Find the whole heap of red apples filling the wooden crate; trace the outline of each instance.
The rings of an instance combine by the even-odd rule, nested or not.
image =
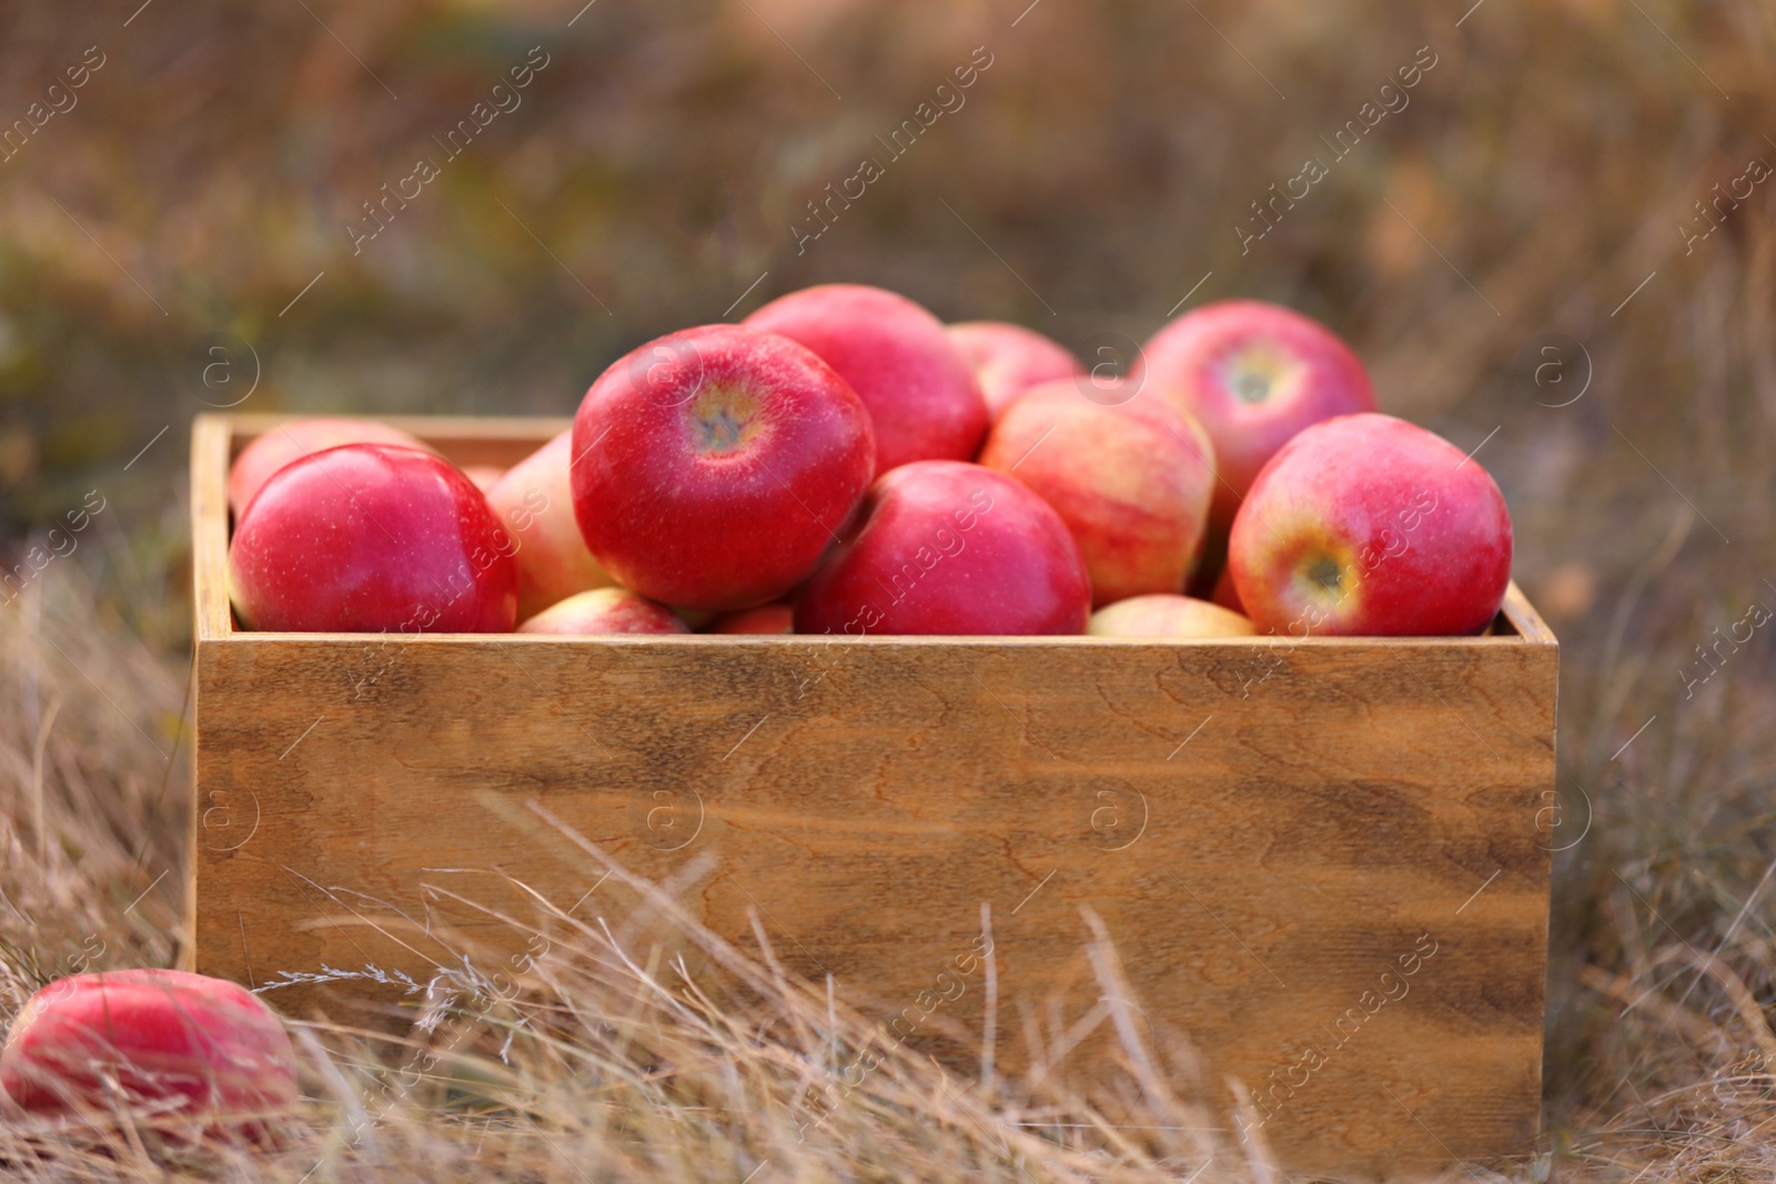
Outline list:
[[[478,476],[375,422],[259,437],[229,481],[240,623],[1472,634],[1511,566],[1485,469],[1259,302],[1186,312],[1110,376],[1016,325],[808,288],[618,359],[570,431]]]

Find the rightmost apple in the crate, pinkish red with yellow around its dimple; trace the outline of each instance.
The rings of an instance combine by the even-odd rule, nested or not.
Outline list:
[[[1257,474],[1227,570],[1265,632],[1476,634],[1511,579],[1511,517],[1455,444],[1392,415],[1339,415]]]

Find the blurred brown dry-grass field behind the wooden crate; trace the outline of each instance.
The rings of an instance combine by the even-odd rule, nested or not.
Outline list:
[[[1341,332],[1384,410],[1479,449],[1561,635],[1556,1173],[1769,1179],[1776,676],[1771,630],[1716,643],[1776,609],[1776,179],[1698,202],[1776,163],[1776,7],[139,4],[0,12],[0,130],[103,59],[0,160],[7,566],[105,501],[0,605],[0,1021],[46,975],[172,955],[179,877],[149,880],[188,822],[155,749],[185,738],[194,414],[568,414],[634,344],[822,280],[1121,360],[1174,309],[1259,296]],[[448,158],[533,46],[520,103]],[[876,137],[977,46],[963,107],[890,162]],[[1408,105],[1334,162],[1320,137],[1421,46]],[[797,243],[867,156],[886,176]],[[1243,250],[1309,156],[1330,176]],[[419,158],[440,176],[353,245]],[[922,1113],[845,1127],[874,1164],[852,1179],[961,1173]],[[984,1147],[984,1113],[955,1138]],[[1034,1179],[1172,1172],[1027,1150]]]

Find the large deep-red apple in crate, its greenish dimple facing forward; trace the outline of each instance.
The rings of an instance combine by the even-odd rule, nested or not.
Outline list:
[[[870,414],[819,357],[735,325],[652,341],[574,417],[574,515],[620,584],[670,605],[776,600],[868,488]]]

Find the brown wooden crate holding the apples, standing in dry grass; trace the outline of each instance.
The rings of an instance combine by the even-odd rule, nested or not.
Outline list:
[[[494,465],[563,428],[394,422]],[[1268,1099],[1289,1166],[1380,1173],[1538,1133],[1556,641],[1515,586],[1483,637],[250,634],[226,472],[272,424],[206,415],[194,437],[197,969],[423,980],[455,959],[417,925],[444,900],[428,884],[517,875],[614,918],[620,880],[535,802],[655,880],[714,854],[686,898],[703,923],[749,948],[757,912],[789,967],[895,1033],[987,902],[1012,1065],[1021,1006],[1076,1019],[1103,994],[1089,907],[1149,1031]],[[266,998],[350,1019],[373,991]],[[979,1031],[982,996],[945,1019]]]

